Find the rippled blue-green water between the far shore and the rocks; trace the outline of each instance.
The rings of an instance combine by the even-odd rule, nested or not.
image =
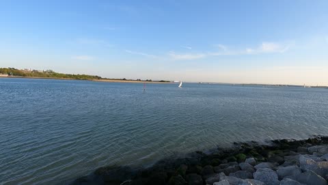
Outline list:
[[[66,184],[234,141],[328,133],[328,90],[0,78],[0,184]]]

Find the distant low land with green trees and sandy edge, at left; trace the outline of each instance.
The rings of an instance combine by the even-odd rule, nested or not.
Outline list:
[[[12,67],[0,68],[0,77],[22,77],[22,78],[41,78],[41,79],[79,79],[79,80],[92,80],[96,82],[134,82],[134,83],[170,83],[167,80],[152,80],[152,79],[111,79],[104,78],[98,75],[74,75],[57,73],[52,70],[38,71],[35,69],[15,69]]]

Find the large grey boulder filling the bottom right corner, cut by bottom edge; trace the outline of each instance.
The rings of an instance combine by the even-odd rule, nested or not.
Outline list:
[[[327,181],[320,175],[314,173],[313,171],[306,171],[299,175],[290,176],[288,178],[308,185],[327,185]]]

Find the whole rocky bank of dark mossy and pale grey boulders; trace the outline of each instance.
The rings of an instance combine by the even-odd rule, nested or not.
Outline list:
[[[147,169],[100,167],[72,184],[328,185],[328,136],[234,143],[211,153],[165,159]]]

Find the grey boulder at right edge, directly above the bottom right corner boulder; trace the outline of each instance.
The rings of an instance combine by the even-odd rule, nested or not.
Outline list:
[[[313,171],[321,177],[325,177],[325,175],[328,174],[327,161],[315,162],[314,160],[307,158],[306,156],[300,156],[299,166],[303,171]]]

